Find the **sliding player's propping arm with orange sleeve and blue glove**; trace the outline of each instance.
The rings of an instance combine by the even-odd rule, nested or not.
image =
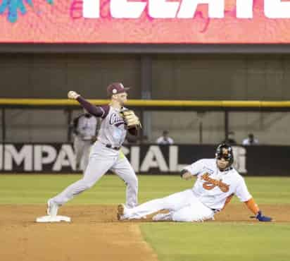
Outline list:
[[[239,185],[237,186],[235,194],[242,202],[246,204],[246,207],[248,207],[248,209],[251,210],[253,214],[255,214],[255,217],[258,219],[258,221],[268,222],[272,220],[271,217],[266,217],[262,214],[258,204],[256,204],[255,200],[248,192],[244,178],[241,178],[241,181],[239,181]]]

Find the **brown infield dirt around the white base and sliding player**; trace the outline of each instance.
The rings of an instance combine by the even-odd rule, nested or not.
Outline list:
[[[290,222],[289,205],[260,205],[275,222]],[[40,224],[43,205],[0,205],[1,261],[156,261],[158,257],[141,236],[140,221],[118,221],[113,205],[68,205],[59,214],[71,223]],[[216,221],[257,222],[243,204],[229,205]],[[151,221],[145,219],[142,221]]]

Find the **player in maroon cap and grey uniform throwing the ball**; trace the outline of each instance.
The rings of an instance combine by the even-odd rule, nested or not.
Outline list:
[[[123,107],[123,104],[127,102],[126,91],[128,89],[122,83],[112,83],[107,87],[111,102],[100,107],[92,105],[77,92],[68,92],[69,99],[76,99],[90,114],[101,118],[101,127],[98,138],[92,146],[89,164],[84,171],[83,178],[48,200],[47,214],[50,217],[56,217],[58,207],[71,200],[75,195],[94,186],[109,169],[125,181],[127,186],[126,207],[137,205],[137,176],[130,162],[120,150],[127,131],[132,135],[137,135],[138,128],[141,126],[134,111]]]

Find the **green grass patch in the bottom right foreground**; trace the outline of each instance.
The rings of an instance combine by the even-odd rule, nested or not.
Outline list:
[[[290,226],[245,223],[141,224],[160,261],[289,261]]]

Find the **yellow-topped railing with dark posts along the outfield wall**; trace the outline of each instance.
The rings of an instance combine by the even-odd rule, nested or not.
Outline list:
[[[108,104],[108,99],[89,99],[96,105]],[[285,112],[290,111],[290,101],[213,101],[213,100],[148,100],[130,99],[127,106],[136,109],[141,118],[146,111],[220,111],[224,114],[223,129],[224,138],[229,135],[229,113],[235,111],[258,111],[258,112]],[[1,141],[6,142],[7,133],[7,109],[58,109],[65,111],[66,126],[70,125],[73,111],[81,109],[80,104],[70,99],[0,99],[1,108]],[[286,114],[285,114],[286,115]],[[199,143],[203,143],[203,121],[198,120]],[[70,128],[67,129],[66,138],[63,142],[70,141]],[[8,140],[10,141],[10,140]],[[33,141],[33,140],[32,140]],[[37,140],[41,142],[42,140]]]

